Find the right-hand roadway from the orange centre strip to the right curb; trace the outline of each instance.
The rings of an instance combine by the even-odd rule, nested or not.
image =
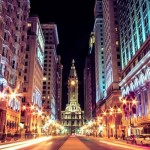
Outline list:
[[[91,149],[91,150],[149,150],[149,147],[143,147],[143,146],[137,146],[132,144],[126,144],[125,142],[118,142],[115,140],[107,141],[106,139],[99,139],[99,138],[93,138],[93,137],[79,137],[81,141],[85,142],[85,144]],[[97,148],[95,148],[97,147]]]

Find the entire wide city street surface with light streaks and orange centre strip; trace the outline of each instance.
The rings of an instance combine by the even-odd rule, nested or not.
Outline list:
[[[92,136],[53,136],[0,145],[1,150],[148,150],[125,141]]]

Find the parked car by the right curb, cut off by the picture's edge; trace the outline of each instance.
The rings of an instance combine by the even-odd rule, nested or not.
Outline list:
[[[131,135],[126,138],[127,143],[150,145],[150,136],[146,135]]]

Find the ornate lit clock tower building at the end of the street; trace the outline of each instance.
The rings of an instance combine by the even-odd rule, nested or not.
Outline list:
[[[62,111],[62,125],[72,134],[77,133],[83,124],[84,111],[78,103],[78,77],[73,60],[68,78],[68,104],[65,111]]]

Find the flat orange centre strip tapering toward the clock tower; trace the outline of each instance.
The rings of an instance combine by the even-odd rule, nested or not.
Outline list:
[[[76,136],[70,136],[59,150],[90,150]]]

